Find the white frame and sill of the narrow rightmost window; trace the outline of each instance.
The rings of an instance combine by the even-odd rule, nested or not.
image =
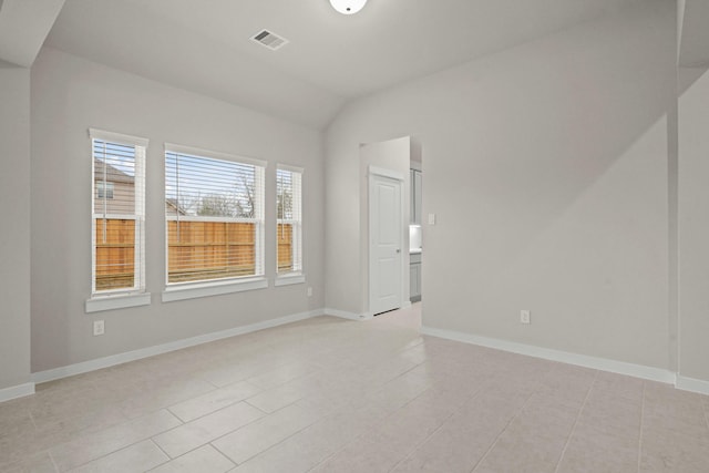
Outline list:
[[[278,173],[287,172],[292,175],[291,187],[292,218],[279,218],[278,216]],[[278,163],[276,165],[276,233],[281,224],[291,225],[291,263],[292,269],[280,271],[278,267],[278,235],[276,235],[276,286],[287,286],[306,281],[304,271],[304,238],[302,238],[302,178],[305,169],[289,164]],[[297,194],[297,195],[296,195]]]

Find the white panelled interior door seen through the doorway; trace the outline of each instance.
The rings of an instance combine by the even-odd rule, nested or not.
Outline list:
[[[372,315],[398,309],[402,301],[402,182],[370,175],[369,295]]]

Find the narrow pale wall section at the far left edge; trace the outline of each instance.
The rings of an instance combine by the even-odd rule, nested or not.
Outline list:
[[[0,61],[0,400],[30,382],[30,70]],[[27,392],[22,392],[27,393]]]

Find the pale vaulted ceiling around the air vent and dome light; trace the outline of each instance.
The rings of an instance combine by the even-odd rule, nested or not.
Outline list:
[[[328,0],[4,0],[0,59],[29,66],[47,37],[99,63],[323,127],[353,97],[643,1],[369,0],[342,16]],[[709,60],[708,4],[686,0],[680,51],[692,64]],[[263,29],[289,43],[271,51],[249,40]]]

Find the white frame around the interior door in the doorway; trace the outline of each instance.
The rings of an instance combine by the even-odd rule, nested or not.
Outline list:
[[[407,265],[408,265],[408,258],[405,258],[404,256],[409,255],[409,248],[404,248],[404,217],[405,217],[405,208],[404,208],[404,204],[408,202],[404,196],[404,176],[393,169],[387,169],[384,167],[378,167],[378,166],[372,166],[370,165],[368,168],[368,212],[367,212],[367,220],[368,220],[368,235],[367,235],[367,239],[368,239],[368,244],[367,244],[367,248],[368,248],[368,263],[369,263],[369,268],[368,268],[368,289],[369,289],[369,307],[368,307],[368,316],[369,317],[373,317],[374,316],[374,311],[373,311],[373,307],[374,307],[374,278],[372,277],[372,271],[374,268],[374,255],[376,251],[373,251],[373,240],[374,240],[374,236],[373,236],[373,225],[372,225],[372,217],[374,215],[373,213],[373,208],[374,208],[374,178],[376,177],[388,177],[390,179],[397,181],[399,183],[399,203],[400,203],[400,209],[399,209],[399,247],[401,248],[401,264],[399,267],[399,280],[400,280],[400,289],[399,289],[399,307],[403,308],[404,307],[404,300],[407,300],[407,295],[405,292],[405,288],[407,288],[407,284],[405,284],[405,277],[404,277],[404,271],[407,269]]]

